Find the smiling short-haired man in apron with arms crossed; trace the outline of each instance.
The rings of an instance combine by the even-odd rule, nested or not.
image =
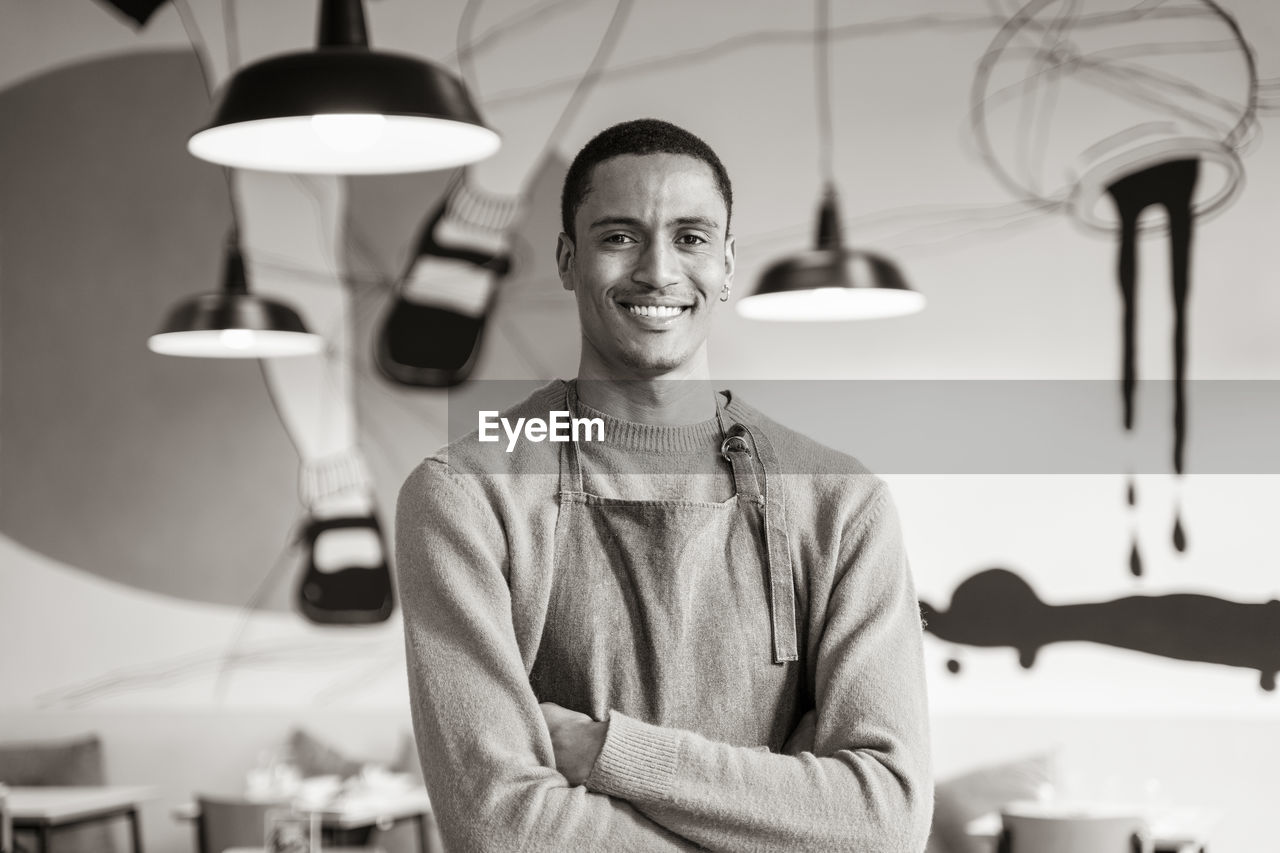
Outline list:
[[[884,485],[708,384],[731,206],[675,126],[591,140],[557,246],[579,377],[503,418],[598,418],[604,441],[472,434],[401,492],[413,722],[451,853],[924,847],[920,620]]]

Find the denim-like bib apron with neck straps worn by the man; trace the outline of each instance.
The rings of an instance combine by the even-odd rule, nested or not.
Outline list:
[[[566,384],[568,411],[577,392]],[[631,501],[588,493],[576,442],[559,453],[540,702],[611,708],[735,745],[781,749],[804,711],[795,589],[777,457],[716,397],[733,496]],[[777,480],[774,479],[776,484]]]

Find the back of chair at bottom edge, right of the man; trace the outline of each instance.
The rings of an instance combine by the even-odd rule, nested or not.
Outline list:
[[[998,853],[1152,853],[1146,821],[1137,816],[1004,812],[1001,820]]]

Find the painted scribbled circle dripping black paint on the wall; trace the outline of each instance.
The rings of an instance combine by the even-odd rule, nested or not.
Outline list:
[[[992,173],[1019,196],[1120,238],[1126,430],[1134,426],[1138,377],[1137,243],[1143,233],[1167,234],[1179,475],[1193,227],[1243,187],[1239,155],[1257,129],[1257,90],[1252,47],[1235,18],[1212,0],[1033,0],[1000,29],[974,77],[973,128]],[[1202,178],[1202,172],[1208,174]],[[1164,218],[1144,220],[1153,206],[1164,209]],[[1132,478],[1125,494],[1135,506]],[[1180,510],[1172,540],[1185,551]],[[1134,576],[1143,573],[1137,539],[1129,569]]]

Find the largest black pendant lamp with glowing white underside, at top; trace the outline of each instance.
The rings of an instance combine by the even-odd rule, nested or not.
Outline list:
[[[454,76],[369,49],[362,0],[321,0],[317,42],[238,70],[187,150],[238,169],[312,174],[449,169],[498,150]]]

